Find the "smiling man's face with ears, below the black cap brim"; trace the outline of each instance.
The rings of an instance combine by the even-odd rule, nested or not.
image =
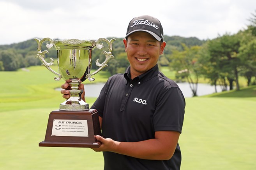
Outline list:
[[[131,65],[131,78],[153,68],[164,52],[166,42],[160,43],[145,31],[136,31],[124,39],[125,51]]]

